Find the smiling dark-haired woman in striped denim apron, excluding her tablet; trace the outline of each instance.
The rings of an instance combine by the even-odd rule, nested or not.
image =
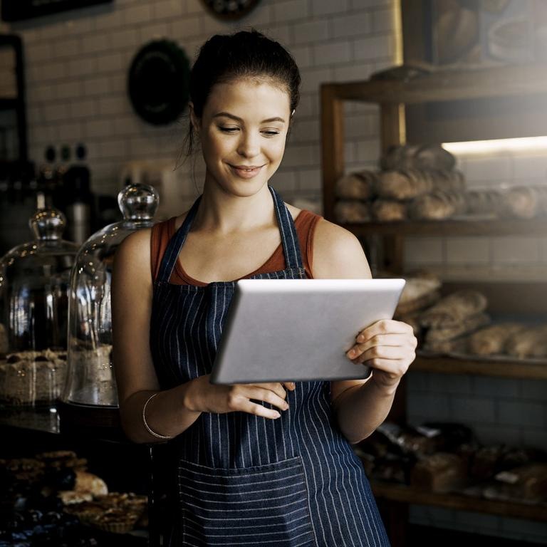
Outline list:
[[[173,439],[173,545],[388,544],[350,443],[390,410],[415,357],[410,326],[380,321],[358,335],[348,358],[373,367],[368,380],[209,383],[233,280],[370,278],[353,234],[269,187],[299,84],[293,58],[256,31],[207,41],[189,103],[203,194],[189,212],[127,237],[116,256],[120,412],[133,441]]]

